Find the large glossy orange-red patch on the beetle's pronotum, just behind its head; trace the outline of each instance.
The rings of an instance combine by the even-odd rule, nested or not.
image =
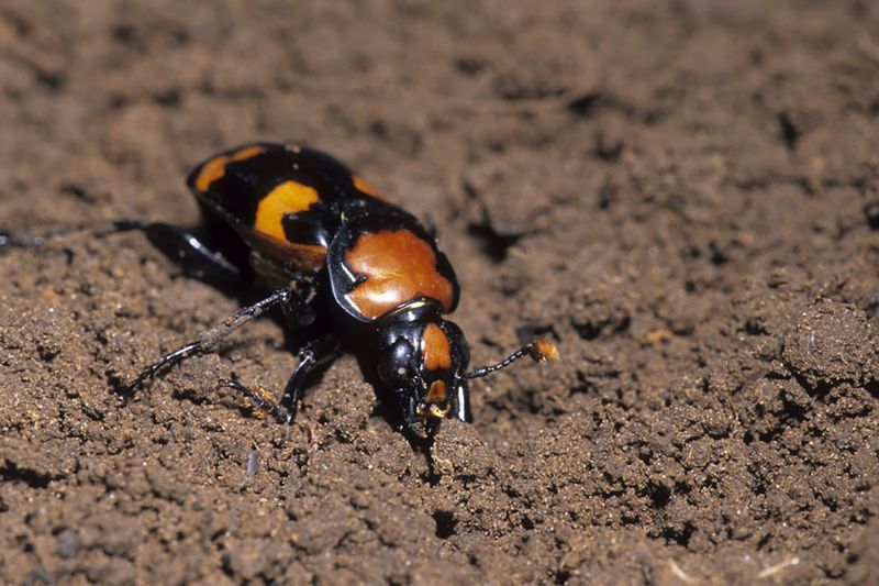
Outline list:
[[[367,318],[419,297],[439,301],[446,311],[452,308],[454,288],[436,269],[433,248],[409,230],[361,234],[345,253],[345,264],[366,277],[347,297]]]

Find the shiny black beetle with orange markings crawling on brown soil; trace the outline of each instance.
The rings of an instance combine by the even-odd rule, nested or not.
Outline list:
[[[468,380],[525,355],[535,362],[558,358],[555,344],[537,340],[498,364],[468,371],[464,333],[445,319],[460,296],[448,258],[414,215],[331,155],[244,144],[197,165],[187,186],[201,208],[204,235],[138,220],[93,231],[142,231],[196,277],[251,281],[271,292],[143,368],[122,386],[124,395],[214,350],[275,307],[289,330],[308,334],[280,399],[237,380],[222,384],[281,423],[293,420],[309,373],[346,342],[375,365],[379,384],[397,403],[399,427],[421,438],[435,433],[445,418],[472,420]],[[0,248],[47,240],[0,235]]]

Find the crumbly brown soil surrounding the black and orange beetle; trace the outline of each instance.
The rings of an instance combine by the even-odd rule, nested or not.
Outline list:
[[[196,224],[189,168],[334,153],[438,230],[475,364],[427,450],[355,357],[291,427],[260,320],[141,234],[0,255],[5,584],[876,584],[879,4],[4,0],[0,226]]]

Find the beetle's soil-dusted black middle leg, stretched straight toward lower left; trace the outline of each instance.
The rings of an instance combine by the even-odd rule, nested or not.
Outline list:
[[[210,330],[199,333],[198,339],[188,344],[183,344],[174,352],[166,354],[158,361],[154,362],[143,371],[129,385],[125,385],[122,390],[123,394],[130,395],[144,383],[154,378],[159,372],[176,366],[185,360],[197,354],[204,354],[212,351],[216,344],[225,336],[244,325],[245,323],[258,318],[266,310],[289,301],[290,297],[294,295],[289,288],[283,288],[275,291],[262,301],[245,307],[236,313],[230,316],[222,322],[218,323]]]

